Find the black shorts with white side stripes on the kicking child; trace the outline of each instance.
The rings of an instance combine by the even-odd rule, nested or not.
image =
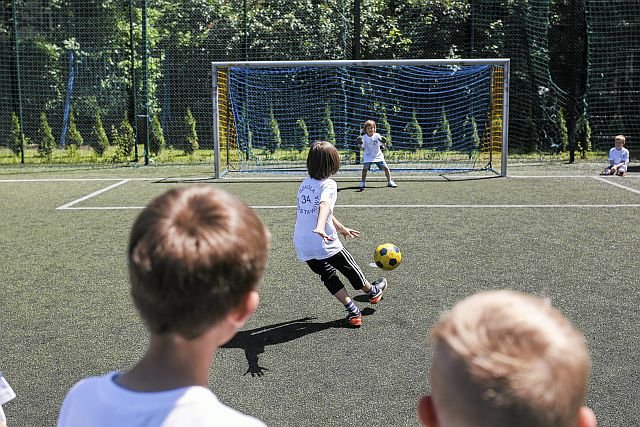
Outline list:
[[[335,295],[344,288],[338,277],[338,271],[347,278],[353,289],[360,290],[367,282],[362,269],[347,248],[342,248],[337,254],[325,259],[310,259],[307,264],[314,273],[320,276],[320,280]]]

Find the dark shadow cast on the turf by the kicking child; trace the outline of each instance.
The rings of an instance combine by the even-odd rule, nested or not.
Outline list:
[[[370,316],[373,313],[375,313],[375,310],[370,307],[362,310],[363,316]],[[251,374],[252,377],[261,377],[269,370],[264,366],[260,366],[258,363],[258,355],[264,353],[266,346],[293,341],[305,335],[326,329],[351,328],[345,319],[332,320],[330,322],[312,322],[312,320],[315,319],[315,317],[305,317],[277,323],[275,325],[250,329],[248,331],[241,331],[222,347],[243,349],[247,363],[249,364],[243,376]]]

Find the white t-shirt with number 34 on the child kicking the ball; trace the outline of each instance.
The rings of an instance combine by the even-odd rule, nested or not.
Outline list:
[[[293,244],[301,261],[329,258],[342,250],[342,242],[333,225],[333,208],[337,199],[338,185],[330,178],[319,181],[308,177],[300,184]],[[324,232],[333,239],[328,243],[313,232],[318,224],[320,202],[327,202],[330,209],[327,224],[324,227]]]

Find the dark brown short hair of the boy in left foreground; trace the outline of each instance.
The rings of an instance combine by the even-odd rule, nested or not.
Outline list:
[[[142,211],[131,230],[135,306],[152,333],[196,338],[256,288],[269,242],[255,212],[225,191],[169,190]]]

